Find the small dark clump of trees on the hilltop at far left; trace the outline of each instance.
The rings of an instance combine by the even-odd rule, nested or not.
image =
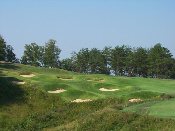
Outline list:
[[[19,63],[19,59],[13,53],[13,47],[7,45],[3,37],[0,35],[0,61],[16,62]]]

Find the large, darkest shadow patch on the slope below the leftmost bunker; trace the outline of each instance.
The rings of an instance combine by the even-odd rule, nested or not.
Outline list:
[[[13,84],[12,80],[20,81],[14,77],[0,77],[0,106],[25,101],[24,90],[19,85]]]

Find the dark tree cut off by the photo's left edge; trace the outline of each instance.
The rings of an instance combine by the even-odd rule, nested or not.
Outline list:
[[[5,49],[6,49],[6,42],[0,35],[0,60],[1,61],[5,60],[5,55],[6,55]]]

